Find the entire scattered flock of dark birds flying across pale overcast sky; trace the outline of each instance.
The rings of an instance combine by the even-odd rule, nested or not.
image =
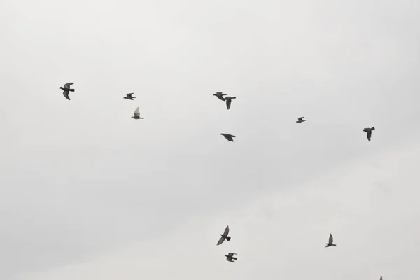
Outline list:
[[[66,83],[64,85],[64,87],[60,87],[60,89],[63,90],[63,95],[64,97],[66,97],[66,99],[69,99],[69,93],[70,92],[74,92],[73,88],[70,88],[70,86],[73,85],[73,83]],[[134,93],[127,93],[127,95],[125,97],[123,97],[124,99],[129,99],[129,100],[134,100],[133,97]],[[221,99],[221,101],[226,102],[226,108],[229,110],[230,106],[232,105],[232,99],[235,99],[236,97],[230,97],[227,96],[228,94],[225,94],[223,92],[216,92],[215,94],[213,94],[214,96],[216,96],[218,99]],[[134,111],[134,116],[132,116],[132,118],[138,120],[138,119],[144,119],[142,117],[140,117],[140,107],[137,107],[136,110]],[[303,123],[306,122],[306,120],[304,120],[304,117],[300,117],[297,118],[296,123]],[[374,127],[365,127],[363,129],[363,132],[366,132],[367,134],[367,140],[370,141],[371,137],[372,137],[372,131],[374,130]],[[228,134],[228,133],[221,133],[221,135],[223,135],[223,137],[225,137],[225,139],[227,139],[230,142],[233,142],[233,138],[235,137],[235,135],[232,134]],[[217,242],[216,245],[220,245],[223,243],[223,241],[228,240],[230,241],[230,236],[229,236],[229,225],[226,226],[225,231],[223,232],[223,235],[221,235],[221,239],[219,239],[219,241]],[[328,243],[326,244],[325,248],[330,247],[330,246],[336,246],[336,244],[333,244],[333,237],[332,234],[330,234],[330,238],[328,239]],[[228,260],[229,262],[235,262],[235,260],[237,260],[237,258],[234,256],[237,255],[237,253],[228,253],[228,255],[225,255],[226,260]],[[382,276],[381,279],[382,280]]]

